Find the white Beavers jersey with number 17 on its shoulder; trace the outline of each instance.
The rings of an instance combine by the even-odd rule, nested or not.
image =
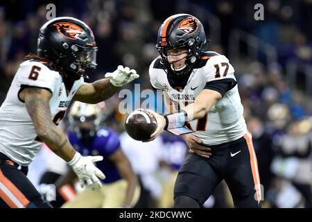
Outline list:
[[[223,55],[208,51],[193,67],[184,89],[174,89],[168,81],[160,60],[161,58],[156,58],[150,65],[150,83],[156,89],[164,90],[177,110],[193,103],[208,82],[225,78],[236,80],[234,68],[229,60]],[[237,85],[226,92],[223,98],[211,107],[205,117],[195,119],[187,126],[194,130],[193,134],[207,145],[224,144],[243,137],[247,127]]]

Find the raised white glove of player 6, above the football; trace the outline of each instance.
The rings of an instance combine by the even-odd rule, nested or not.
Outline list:
[[[105,78],[109,78],[112,85],[121,87],[139,78],[139,75],[135,69],[130,69],[129,67],[123,68],[122,65],[119,65],[114,72],[107,72]]]

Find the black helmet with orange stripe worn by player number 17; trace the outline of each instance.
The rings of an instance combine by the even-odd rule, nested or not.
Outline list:
[[[165,65],[167,70],[171,69],[166,52],[168,49],[184,48],[188,51],[185,62],[187,67],[181,71],[172,70],[174,74],[189,74],[202,53],[204,53],[206,46],[207,40],[204,27],[193,15],[172,15],[159,28],[156,49],[162,56],[162,64]]]

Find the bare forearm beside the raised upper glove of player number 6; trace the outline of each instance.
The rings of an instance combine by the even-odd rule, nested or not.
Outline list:
[[[96,94],[94,97],[95,103],[99,103],[101,101],[109,99],[119,89],[119,87],[115,87],[114,85],[112,85],[112,83],[110,83],[110,80],[108,78],[97,80],[94,83],[92,83],[92,85],[96,90]]]

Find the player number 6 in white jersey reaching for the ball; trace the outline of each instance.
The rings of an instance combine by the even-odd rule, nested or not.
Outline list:
[[[57,17],[41,28],[37,55],[26,56],[0,108],[0,207],[51,207],[26,178],[42,143],[62,157],[82,185],[101,187],[94,166],[101,156],[83,157],[58,127],[71,99],[98,103],[139,75],[119,66],[106,78],[84,83],[96,68],[92,30],[78,19]]]

